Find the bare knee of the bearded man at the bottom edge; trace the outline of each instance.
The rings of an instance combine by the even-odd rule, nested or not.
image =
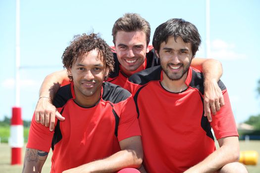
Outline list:
[[[248,173],[246,167],[238,162],[233,162],[223,166],[218,173]]]

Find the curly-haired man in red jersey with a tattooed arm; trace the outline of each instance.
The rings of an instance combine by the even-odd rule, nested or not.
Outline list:
[[[78,35],[62,63],[71,83],[58,89],[53,105],[66,121],[57,120],[50,131],[33,116],[23,173],[40,173],[51,147],[51,173],[138,168],[143,150],[134,100],[126,89],[104,82],[113,71],[110,47],[96,34]]]

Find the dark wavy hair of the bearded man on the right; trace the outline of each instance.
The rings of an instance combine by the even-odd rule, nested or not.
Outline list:
[[[185,43],[191,43],[192,55],[195,56],[201,44],[201,36],[195,25],[183,19],[169,19],[160,24],[155,31],[153,46],[159,51],[162,42],[167,43],[169,37],[176,41],[181,37]]]

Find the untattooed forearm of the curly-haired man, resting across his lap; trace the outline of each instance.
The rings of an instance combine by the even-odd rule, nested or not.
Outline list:
[[[143,159],[133,150],[122,150],[108,158],[90,162],[63,173],[111,173],[123,168],[139,168]]]

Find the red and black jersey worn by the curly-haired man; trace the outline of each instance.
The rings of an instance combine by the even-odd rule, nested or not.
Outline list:
[[[95,106],[85,108],[74,101],[73,83],[61,87],[53,104],[65,121],[56,119],[54,131],[32,118],[27,148],[52,147],[52,173],[108,157],[120,151],[118,141],[141,135],[130,92],[105,82],[101,93]]]

